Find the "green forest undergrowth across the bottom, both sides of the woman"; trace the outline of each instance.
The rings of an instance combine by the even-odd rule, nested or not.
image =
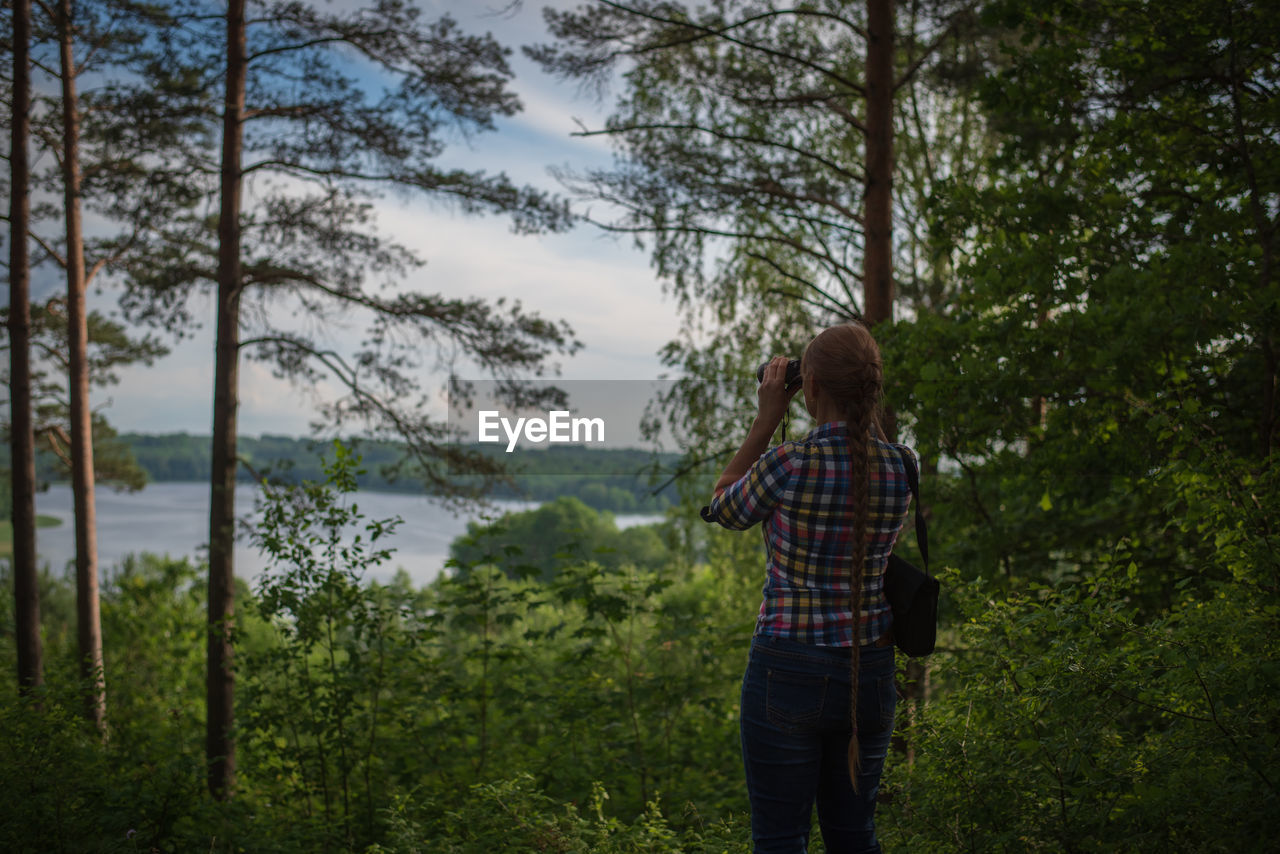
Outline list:
[[[691,548],[673,521],[662,567],[566,542],[548,579],[499,520],[434,584],[376,584],[403,522],[360,512],[357,470],[339,447],[326,483],[264,493],[253,540],[273,568],[239,592],[225,802],[205,789],[201,567],[142,554],[104,585],[105,741],[81,712],[74,585],[46,572],[47,688],[0,703],[0,846],[749,850],[737,689],[758,540]],[[1201,479],[1183,488],[1203,501],[1181,524],[1219,530],[1219,560],[1158,613],[1123,543],[1018,590],[943,570],[947,625],[882,786],[887,850],[1266,849],[1276,567],[1248,517],[1224,531],[1230,507]],[[12,631],[3,643],[12,663]]]

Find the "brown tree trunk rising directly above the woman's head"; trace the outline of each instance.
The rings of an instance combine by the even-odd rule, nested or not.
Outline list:
[[[893,318],[893,0],[867,0],[863,319]]]

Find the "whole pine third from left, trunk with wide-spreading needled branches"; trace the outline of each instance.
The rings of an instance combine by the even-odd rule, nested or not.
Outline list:
[[[210,790],[228,796],[241,355],[301,384],[335,382],[343,392],[321,402],[324,431],[355,423],[371,438],[407,440],[402,472],[447,489],[451,470],[493,463],[460,452],[428,417],[420,371],[456,350],[499,378],[540,373],[576,342],[518,302],[404,289],[421,260],[374,230],[374,202],[417,193],[467,214],[509,214],[525,232],[570,220],[563,202],[502,174],[434,163],[449,133],[492,129],[520,106],[492,37],[465,35],[448,17],[426,22],[401,0],[337,12],[233,0],[216,31],[197,13],[179,20],[154,46],[147,87],[174,93],[157,109],[192,117],[186,183],[216,198],[216,232],[196,213],[156,222],[116,271],[131,316],[165,325],[191,323],[191,294],[216,287],[206,752]],[[367,333],[342,351],[320,330],[347,315]],[[289,316],[308,330],[279,323]]]

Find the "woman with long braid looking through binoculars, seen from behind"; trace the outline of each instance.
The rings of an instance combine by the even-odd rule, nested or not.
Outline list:
[[[751,837],[756,854],[805,851],[817,802],[829,854],[879,851],[876,793],[896,705],[882,583],[911,501],[901,456],[911,451],[879,438],[881,356],[861,324],[805,348],[818,426],[769,448],[797,391],[783,384],[786,365],[765,367],[755,421],[703,508],[724,528],[764,528],[740,718]]]

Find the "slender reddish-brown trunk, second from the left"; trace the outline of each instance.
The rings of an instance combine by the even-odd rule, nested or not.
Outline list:
[[[88,405],[88,319],[84,306],[84,236],[81,229],[79,106],[72,1],[58,9],[63,76],[63,187],[67,215],[67,341],[70,392],[72,494],[76,503],[76,629],[84,712],[106,732],[106,675],[97,606],[97,510],[93,501],[93,430]]]

